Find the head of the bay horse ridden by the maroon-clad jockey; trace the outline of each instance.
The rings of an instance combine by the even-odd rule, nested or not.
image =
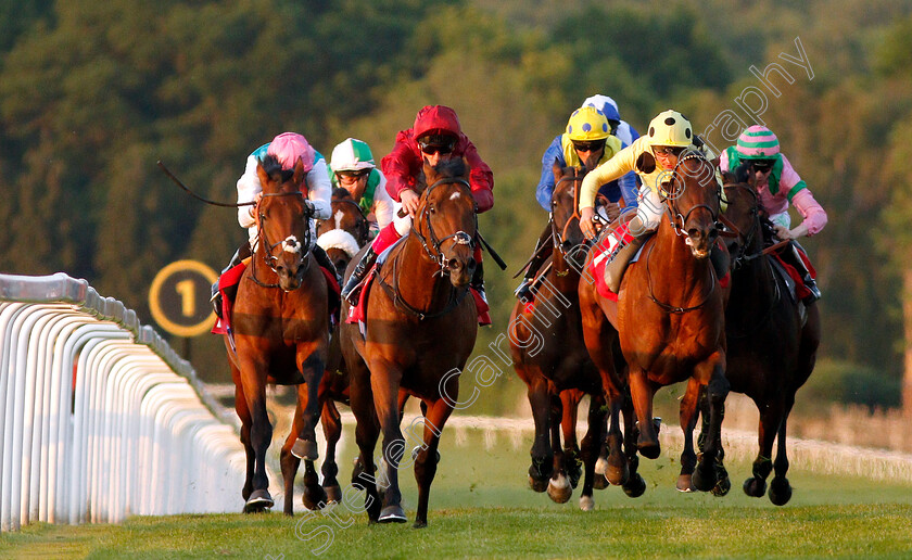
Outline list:
[[[477,204],[469,186],[465,160],[448,160],[431,167],[425,163],[427,188],[421,193],[413,232],[425,251],[448,275],[456,288],[465,288],[474,273],[478,230]]]

